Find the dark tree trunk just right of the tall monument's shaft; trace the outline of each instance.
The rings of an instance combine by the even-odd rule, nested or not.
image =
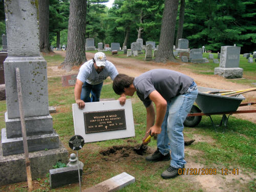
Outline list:
[[[49,42],[49,0],[38,1],[39,48],[40,52],[51,51]]]

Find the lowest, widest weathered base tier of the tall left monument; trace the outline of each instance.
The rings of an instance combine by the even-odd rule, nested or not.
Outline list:
[[[67,164],[69,154],[61,144],[59,148],[29,153],[32,180],[45,178],[49,170],[56,162],[61,161]],[[2,145],[0,144],[0,185],[7,185],[27,181],[25,166],[25,155],[2,156]]]

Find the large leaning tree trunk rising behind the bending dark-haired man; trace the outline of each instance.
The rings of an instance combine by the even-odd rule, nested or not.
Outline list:
[[[174,61],[173,45],[179,0],[165,0],[156,62]]]

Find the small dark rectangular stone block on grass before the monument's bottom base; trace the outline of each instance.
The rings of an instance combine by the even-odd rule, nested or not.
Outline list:
[[[50,187],[57,188],[63,185],[79,182],[77,166],[50,169]],[[80,181],[82,180],[82,168],[79,168]]]

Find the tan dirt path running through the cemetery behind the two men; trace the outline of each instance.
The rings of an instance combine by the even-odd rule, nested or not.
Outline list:
[[[61,54],[65,56],[65,51],[56,51],[57,54]],[[86,53],[87,59],[90,60],[93,58],[94,53]],[[133,77],[139,76],[141,73],[152,69],[170,69],[179,71],[183,74],[186,74],[195,79],[198,86],[201,87],[209,87],[209,88],[217,88],[217,89],[246,89],[251,88],[249,85],[245,86],[243,84],[233,83],[227,81],[225,78],[218,75],[202,75],[191,72],[189,69],[184,69],[181,66],[187,65],[186,63],[175,63],[175,62],[167,62],[167,63],[156,63],[153,61],[138,61],[133,58],[117,58],[115,56],[107,56],[107,59],[114,63],[119,73],[124,73]],[[49,76],[62,76],[68,74],[78,73],[78,68],[73,69],[70,72],[66,72],[65,70],[58,69],[56,66],[49,67],[48,77]],[[243,94],[246,100],[244,102],[256,102],[256,92],[248,92]],[[238,110],[256,110],[256,106],[243,106]],[[234,114],[233,116],[239,117],[242,119],[246,119],[256,123],[256,115],[255,113],[246,113],[246,114]]]

